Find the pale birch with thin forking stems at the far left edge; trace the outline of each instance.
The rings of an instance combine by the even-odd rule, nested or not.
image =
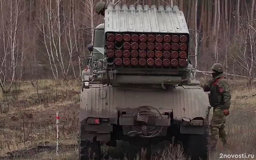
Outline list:
[[[2,27],[0,40],[3,46],[3,54],[0,57],[0,86],[5,93],[10,91],[20,62],[18,33],[21,29],[19,18],[22,17],[22,9],[18,0],[0,0],[0,4]]]

